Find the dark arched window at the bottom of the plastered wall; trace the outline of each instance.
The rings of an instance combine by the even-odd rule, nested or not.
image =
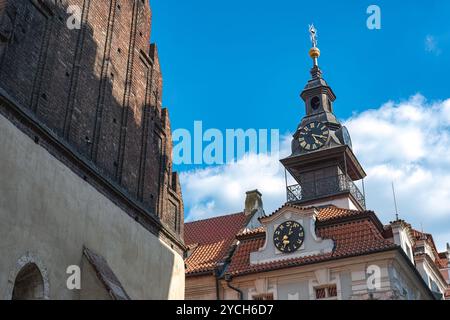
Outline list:
[[[14,282],[13,300],[43,300],[44,279],[34,263],[29,263],[20,270]]]

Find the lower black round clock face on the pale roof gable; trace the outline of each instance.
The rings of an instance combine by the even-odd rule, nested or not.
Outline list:
[[[295,221],[286,221],[278,226],[273,235],[275,247],[283,253],[298,251],[305,241],[303,226]]]

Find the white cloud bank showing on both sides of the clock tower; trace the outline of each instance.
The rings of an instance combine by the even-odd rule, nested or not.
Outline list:
[[[400,215],[435,234],[440,248],[450,234],[450,99],[428,102],[415,95],[388,102],[344,121],[354,152],[366,169],[368,208],[387,223],[394,219],[391,183]],[[281,156],[290,152],[283,138]],[[247,155],[237,163],[184,172],[181,181],[188,220],[239,212],[245,192],[259,189],[268,213],[286,199],[278,155]]]

